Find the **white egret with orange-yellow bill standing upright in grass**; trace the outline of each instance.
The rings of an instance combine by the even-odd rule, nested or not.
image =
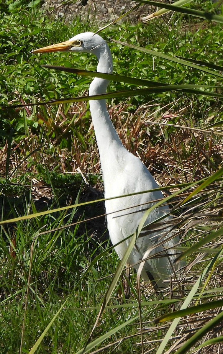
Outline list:
[[[98,58],[97,72],[108,74],[113,72],[110,49],[98,34],[81,33],[66,42],[36,49],[33,53],[56,51],[92,53]],[[109,80],[95,78],[90,84],[89,95],[105,93],[108,84]],[[122,145],[108,114],[105,99],[90,101],[90,111],[100,155],[105,198],[159,188],[142,161]],[[163,195],[160,191],[152,191],[105,201],[111,242],[116,245],[123,241],[115,246],[115,251],[120,259],[125,254],[130,242],[130,238],[126,238],[136,231],[145,210],[162,198]],[[164,203],[149,214],[144,225],[154,223],[155,220],[159,219],[159,227],[155,231],[154,225],[151,227],[150,224],[150,229],[152,228],[153,231],[149,233],[148,230],[146,232],[142,230],[141,237],[137,239],[128,259],[129,265],[138,269],[139,262],[149,247],[154,246],[162,239],[166,240],[171,237],[172,233],[168,222],[171,221],[172,217],[169,213],[170,209]],[[162,224],[162,228],[160,224]],[[167,240],[164,244],[153,249],[149,255],[153,257],[145,262],[141,275],[145,280],[151,280],[155,289],[167,287],[163,280],[171,277],[173,269],[175,271],[179,269],[178,264],[173,264],[176,258],[176,250],[173,247],[178,242],[178,236]],[[158,255],[155,256],[157,253]]]

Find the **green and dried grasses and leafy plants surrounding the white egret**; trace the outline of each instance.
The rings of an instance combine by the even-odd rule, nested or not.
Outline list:
[[[202,10],[215,11],[212,1],[191,7],[200,9],[201,3]],[[78,18],[72,24],[49,18],[40,5],[38,0],[0,4],[0,353],[19,348],[20,353],[84,353],[86,344],[90,353],[100,348],[138,353],[142,330],[145,352],[162,353],[165,347],[177,354],[191,348],[198,353],[202,343],[202,353],[221,352],[223,104],[216,86],[223,77],[222,23],[175,12],[149,24],[117,23],[102,32],[112,39],[116,74],[200,90],[196,95],[172,89],[129,97],[137,86],[110,82],[114,96],[129,90],[108,100],[120,138],[164,189],[176,194],[169,198],[187,256],[181,296],[157,296],[142,282],[141,321],[136,275],[131,275],[128,299],[119,276],[109,288],[120,261],[104,225],[88,103],[40,105],[85,95],[91,80],[41,65],[94,71],[96,58],[28,54],[98,28]],[[179,57],[190,59],[189,66]],[[37,105],[11,107],[24,103]],[[108,306],[87,343],[103,299]],[[190,311],[181,312],[180,322],[179,308]],[[172,325],[168,313],[176,317]],[[154,324],[161,315],[165,324],[161,319]],[[162,342],[166,332],[168,343]],[[175,343],[183,335],[179,349]]]

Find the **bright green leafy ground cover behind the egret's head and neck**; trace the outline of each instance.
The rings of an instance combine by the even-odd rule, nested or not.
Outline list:
[[[14,4],[14,3],[13,3]],[[188,30],[179,32],[183,19],[178,15],[171,17],[171,24],[165,25],[160,19],[150,22],[149,25],[141,23],[131,25],[122,23],[117,27],[111,27],[104,31],[110,38],[119,39],[119,33],[122,33],[122,41],[130,44],[145,46],[154,51],[159,51],[167,55],[182,56],[185,58],[194,58],[196,60],[222,65],[222,39],[223,31],[220,25],[212,26],[207,24],[204,29],[196,29],[196,22],[191,20]],[[69,53],[53,53],[45,55],[28,54],[33,48],[52,44],[53,42],[63,41],[75,33],[84,32],[87,26],[76,19],[72,25],[61,23],[59,20],[49,19],[36,7],[31,8],[29,12],[22,7],[18,13],[8,14],[0,19],[2,45],[0,48],[0,103],[7,105],[8,102],[22,103],[22,99],[27,102],[38,102],[38,100],[50,100],[63,97],[76,97],[88,89],[90,79],[86,77],[77,77],[65,72],[56,72],[41,68],[42,64],[58,64],[63,66],[74,66],[95,70],[96,58],[86,54],[70,55]],[[201,26],[200,26],[201,27]],[[44,28],[44,31],[42,30]],[[117,31],[118,29],[118,31]],[[177,35],[176,35],[177,34]],[[159,38],[159,41],[157,40]],[[19,39],[19,40],[18,40]],[[53,40],[52,40],[53,39]],[[202,45],[200,45],[202,43]],[[185,68],[177,63],[168,62],[161,58],[152,58],[141,51],[133,51],[131,48],[114,44],[110,42],[110,48],[114,59],[114,72],[125,75],[131,73],[133,77],[140,77],[147,80],[167,82],[169,84],[205,84],[209,86],[219,85],[219,78],[207,73],[198,72],[198,70]],[[137,65],[135,63],[137,62]],[[80,65],[81,63],[81,65]],[[131,89],[130,84],[110,83],[110,90]],[[81,88],[81,91],[80,91]],[[35,97],[35,98],[34,98]],[[16,100],[16,101],[15,101]],[[177,93],[159,93],[151,97],[135,97],[128,100],[128,105],[136,108],[142,104],[152,101],[159,104],[160,107],[177,100],[176,110],[181,110],[190,106],[190,97],[180,92]],[[118,99],[114,100],[116,104]],[[192,120],[193,125],[204,127],[206,113],[212,116],[211,122],[221,120],[219,113],[218,99],[206,98],[205,96],[196,96],[193,98],[193,109],[189,109],[185,114],[184,120]],[[133,108],[132,107],[132,108]],[[68,112],[70,105],[64,105],[64,111]],[[132,109],[130,107],[130,109]],[[81,109],[84,110],[83,107]],[[57,108],[54,106],[48,112],[45,108],[29,110],[29,117],[25,110],[6,111],[0,110],[0,119],[2,126],[0,136],[7,137],[11,127],[14,129],[13,139],[20,143],[23,139],[29,138],[28,130],[35,137],[42,136],[42,131],[46,134],[47,143],[52,144],[53,139],[57,139],[59,147],[71,150],[74,145],[74,139],[77,139],[81,152],[84,153],[89,146],[94,148],[95,142],[92,140],[92,134],[88,132],[90,127],[89,112],[86,112],[81,118],[81,124],[71,123],[66,131],[66,122],[62,123],[61,128],[54,124],[54,116]],[[74,118],[74,120],[72,119]],[[67,119],[75,121],[75,116],[68,114]],[[178,124],[179,118],[170,119],[169,123]],[[66,131],[64,136],[63,131]],[[166,128],[166,137],[171,136],[172,129]],[[39,143],[45,143],[44,136]],[[87,144],[86,144],[87,137]],[[49,141],[50,140],[50,141]],[[156,135],[151,134],[150,142],[157,144]],[[87,147],[88,146],[88,147]],[[41,163],[41,162],[40,162]],[[67,164],[70,170],[69,164]]]

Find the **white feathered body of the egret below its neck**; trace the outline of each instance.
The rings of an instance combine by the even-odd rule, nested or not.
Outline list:
[[[135,168],[133,169],[132,166],[135,166]],[[112,243],[115,245],[136,231],[144,212],[158,200],[161,200],[163,195],[160,191],[135,194],[145,190],[153,190],[158,188],[158,185],[142,162],[132,154],[130,158],[128,156],[128,163],[125,160],[124,168],[114,169],[113,174],[113,186],[109,188],[109,197],[134,193],[131,196],[107,200],[105,202],[109,234]],[[105,190],[105,197],[107,198],[106,192]],[[165,248],[171,248],[179,241],[175,237],[165,242],[164,245],[154,248],[162,238],[166,239],[171,236],[168,221],[172,217],[168,215],[169,212],[169,207],[165,203],[150,212],[145,222],[145,225],[149,226],[142,230],[128,260],[128,263],[131,265],[139,262],[145,251],[151,248],[149,256],[152,258],[146,262],[144,269],[153,275],[159,286],[162,284],[162,279],[172,274],[170,263],[175,258],[174,250],[167,251],[169,256],[165,256]],[[158,225],[154,224],[154,221],[158,219]],[[122,244],[115,247],[120,258],[123,257],[129,242],[130,239],[128,238]],[[154,257],[156,253],[159,253],[159,256]],[[137,267],[135,266],[136,269]],[[143,277],[145,278],[144,275]],[[161,281],[159,281],[160,279]]]

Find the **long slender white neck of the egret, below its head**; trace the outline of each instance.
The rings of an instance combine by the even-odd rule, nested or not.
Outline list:
[[[106,42],[100,46],[100,50],[95,53],[98,58],[97,72],[111,74],[113,72],[113,62],[110,49]],[[109,80],[95,78],[90,85],[89,95],[100,95],[106,92],[108,87]],[[98,150],[101,161],[101,168],[104,177],[104,185],[106,189],[106,180],[107,176],[105,173],[108,173],[108,164],[115,161],[115,156],[120,150],[120,147],[123,147],[119,136],[110,120],[106,108],[105,99],[93,100],[90,101],[90,111],[91,117],[95,129],[95,136],[98,144]],[[109,155],[113,155],[113,159],[109,159]],[[109,160],[109,161],[108,161]],[[106,168],[105,168],[106,166]],[[112,168],[112,166],[111,166]]]

